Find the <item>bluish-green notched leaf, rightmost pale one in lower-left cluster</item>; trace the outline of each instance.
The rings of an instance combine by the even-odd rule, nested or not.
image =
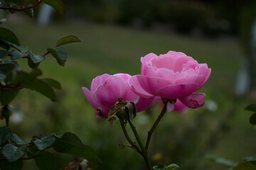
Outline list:
[[[48,135],[46,137],[41,137],[41,139],[34,137],[32,142],[36,145],[36,147],[38,147],[39,150],[43,150],[53,145],[53,143],[55,142],[55,136]]]

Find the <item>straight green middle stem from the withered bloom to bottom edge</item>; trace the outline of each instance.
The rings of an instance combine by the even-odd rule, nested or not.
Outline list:
[[[132,132],[134,133],[134,136],[135,136],[137,142],[139,143],[139,147],[142,149],[142,157],[143,157],[143,159],[146,163],[147,169],[153,170],[152,166],[151,166],[151,163],[149,161],[147,150],[145,149],[144,145],[142,144],[142,141],[139,138],[139,135],[138,135],[138,132],[137,132],[135,126],[133,125],[133,123],[130,120],[128,120],[128,122],[129,122],[129,125],[132,128]]]

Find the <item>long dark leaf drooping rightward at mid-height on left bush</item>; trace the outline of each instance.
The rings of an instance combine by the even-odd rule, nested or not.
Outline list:
[[[38,91],[43,96],[50,98],[52,101],[57,101],[57,96],[52,87],[41,79],[33,79],[32,81],[24,81],[23,86],[28,89]]]

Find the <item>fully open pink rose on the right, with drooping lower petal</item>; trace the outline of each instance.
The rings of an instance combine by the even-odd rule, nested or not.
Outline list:
[[[135,94],[143,97],[178,98],[189,108],[203,106],[205,94],[196,94],[210,77],[207,64],[198,64],[183,52],[150,53],[141,58],[142,74],[129,79]]]

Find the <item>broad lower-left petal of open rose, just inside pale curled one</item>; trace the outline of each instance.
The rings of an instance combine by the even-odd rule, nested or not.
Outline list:
[[[170,81],[160,77],[146,77],[142,75],[137,75],[136,77],[139,81],[139,85],[142,86],[142,89],[154,96],[158,96],[156,95],[156,91],[171,84]]]

